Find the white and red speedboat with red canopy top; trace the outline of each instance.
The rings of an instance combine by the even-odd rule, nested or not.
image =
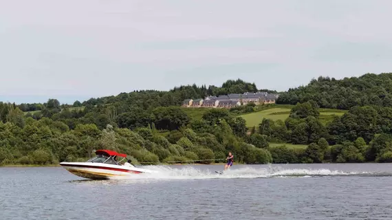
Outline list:
[[[117,162],[117,157],[122,159]],[[127,155],[116,151],[98,150],[96,157],[87,162],[61,162],[60,165],[70,173],[87,179],[117,179],[142,173],[157,173],[155,170],[137,168],[133,164],[124,166],[120,164]]]

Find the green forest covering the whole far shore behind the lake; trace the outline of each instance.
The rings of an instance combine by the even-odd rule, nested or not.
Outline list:
[[[244,164],[392,162],[391,81],[392,74],[342,80],[320,77],[280,94],[279,104],[292,105],[287,119],[263,119],[251,128],[239,115],[268,106],[208,109],[201,117],[179,107],[186,98],[276,93],[243,80],[228,80],[221,87],[132,91],[72,105],[56,99],[0,102],[0,164],[83,162],[102,148],[127,153],[135,164],[224,162],[228,151],[235,162]],[[323,123],[320,107],[348,111]]]

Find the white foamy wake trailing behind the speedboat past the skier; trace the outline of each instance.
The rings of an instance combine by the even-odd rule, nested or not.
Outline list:
[[[254,168],[245,167],[228,170],[219,175],[215,170],[199,169],[194,166],[173,168],[169,166],[146,166],[149,170],[157,170],[158,173],[140,174],[120,179],[255,179],[255,178],[290,178],[290,177],[337,177],[337,176],[392,176],[392,173],[372,172],[347,172],[328,169],[285,169],[280,167]],[[119,177],[116,177],[119,179]]]

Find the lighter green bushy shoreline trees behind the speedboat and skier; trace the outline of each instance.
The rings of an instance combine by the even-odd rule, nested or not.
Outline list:
[[[222,162],[227,151],[238,155],[237,162],[272,162],[267,149],[247,142],[245,121],[228,110],[211,109],[202,120],[191,122],[179,107],[157,107],[149,113],[140,112],[140,118],[126,114],[105,119],[100,118],[105,108],[98,107],[78,112],[63,110],[40,119],[23,115],[12,104],[1,104],[4,107],[10,110],[6,121],[0,122],[1,164],[85,161],[99,148],[127,153],[143,164]]]

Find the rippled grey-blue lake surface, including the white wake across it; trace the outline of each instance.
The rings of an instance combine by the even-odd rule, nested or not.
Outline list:
[[[161,174],[0,168],[0,219],[392,219],[392,164],[149,168]]]

